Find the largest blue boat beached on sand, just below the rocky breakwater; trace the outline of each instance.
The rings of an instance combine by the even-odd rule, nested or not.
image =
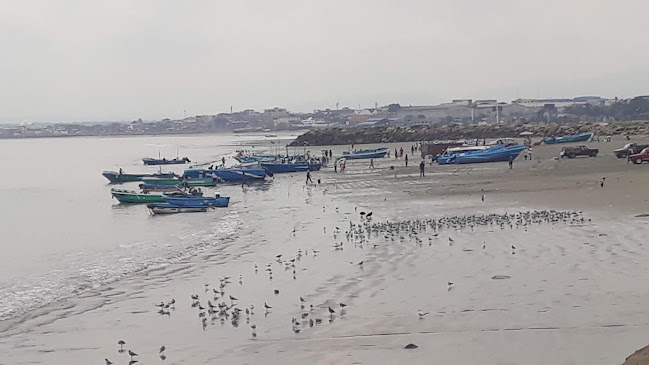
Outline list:
[[[498,145],[487,148],[449,148],[442,156],[437,158],[440,165],[446,164],[465,164],[465,163],[483,163],[509,161],[510,158],[516,159],[525,149],[524,145],[504,146]]]

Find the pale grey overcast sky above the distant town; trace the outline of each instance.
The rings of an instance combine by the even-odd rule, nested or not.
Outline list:
[[[649,94],[645,0],[0,0],[0,122]]]

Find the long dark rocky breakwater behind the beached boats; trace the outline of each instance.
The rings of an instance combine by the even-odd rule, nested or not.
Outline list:
[[[363,143],[420,142],[475,138],[564,136],[594,132],[598,136],[649,134],[649,122],[628,123],[538,123],[525,125],[424,125],[403,127],[330,128],[299,136],[291,146],[327,146]]]

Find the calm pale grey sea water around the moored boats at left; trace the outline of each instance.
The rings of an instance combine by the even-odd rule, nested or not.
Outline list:
[[[155,172],[157,167],[140,159],[158,153],[167,158],[178,153],[193,163],[226,157],[230,164],[235,150],[255,144],[261,150],[279,142],[260,135],[0,141],[0,319],[186,259],[240,229],[236,203],[173,218],[153,217],[143,205],[119,204],[103,170]],[[163,169],[181,173],[188,166]],[[137,184],[118,186],[137,189]]]

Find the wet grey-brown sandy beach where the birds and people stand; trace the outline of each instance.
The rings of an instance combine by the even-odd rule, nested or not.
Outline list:
[[[622,363],[649,338],[649,218],[636,217],[649,213],[649,167],[612,156],[621,144],[596,143],[600,157],[560,161],[552,157],[561,146],[540,146],[512,170],[434,165],[420,178],[419,159],[405,168],[386,158],[372,171],[368,161],[350,161],[345,173],[314,173],[320,185],[304,186],[296,174],[223,187],[240,199],[228,213],[236,235],[5,321],[0,364],[126,364],[120,339],[140,363],[161,362],[162,345],[169,364]],[[581,211],[584,221],[345,234],[350,222],[366,232],[360,212],[383,224],[552,209]],[[215,301],[225,276],[226,299]],[[208,299],[232,305],[232,295],[254,314],[236,326],[208,314],[203,326],[192,294],[206,308]],[[175,309],[158,314],[155,304],[172,298]],[[429,314],[420,319],[420,310]],[[322,323],[311,327],[311,318]],[[403,349],[409,343],[418,348]]]

